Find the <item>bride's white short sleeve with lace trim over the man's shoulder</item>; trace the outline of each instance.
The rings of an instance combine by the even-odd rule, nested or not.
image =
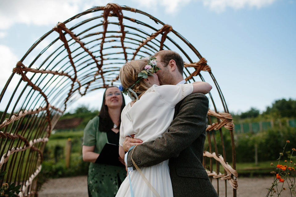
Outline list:
[[[153,89],[158,93],[160,99],[169,106],[175,107],[177,103],[193,92],[193,85],[191,83],[162,86],[153,85]]]

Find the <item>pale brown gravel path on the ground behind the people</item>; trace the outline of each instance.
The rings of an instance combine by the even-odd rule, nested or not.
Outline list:
[[[272,177],[265,178],[245,178],[239,177],[239,188],[237,190],[237,197],[265,197],[267,194],[267,187],[271,186],[273,182]],[[217,181],[213,181],[216,188]],[[219,181],[220,197],[225,197],[224,181]],[[232,197],[232,188],[227,183],[227,196]],[[222,188],[223,187],[223,188]],[[286,188],[287,185],[285,186]],[[39,197],[87,197],[87,177],[78,176],[70,178],[50,179],[43,184]],[[283,191],[281,197],[289,196],[289,191]]]

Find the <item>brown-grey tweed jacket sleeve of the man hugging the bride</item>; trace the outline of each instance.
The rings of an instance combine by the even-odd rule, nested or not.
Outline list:
[[[168,132],[155,141],[142,143],[129,151],[128,167],[133,167],[131,155],[137,166],[153,166],[171,157],[178,157],[207,127],[208,98],[201,93],[190,94],[181,101],[179,113]]]

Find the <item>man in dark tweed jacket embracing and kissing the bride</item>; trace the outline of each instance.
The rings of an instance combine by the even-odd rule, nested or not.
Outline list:
[[[184,62],[174,51],[162,50],[155,54],[156,73],[160,84],[183,84]],[[169,160],[174,197],[218,196],[203,167],[205,131],[207,128],[208,98],[201,93],[190,94],[175,106],[174,120],[162,138],[142,141],[126,137],[125,148],[134,148],[133,159],[138,167],[149,167]],[[157,113],[157,112],[155,112]],[[127,167],[134,167],[131,153]]]

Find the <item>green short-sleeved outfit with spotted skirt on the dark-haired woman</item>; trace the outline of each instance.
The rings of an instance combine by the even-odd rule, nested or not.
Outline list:
[[[105,143],[108,143],[109,140],[106,132],[99,131],[98,116],[91,119],[84,128],[83,145],[95,146],[94,152],[96,153],[100,153]],[[118,143],[119,141],[116,144],[118,145]],[[124,166],[121,168],[100,163],[90,163],[87,178],[88,195],[91,197],[114,197],[125,177],[126,171]]]

